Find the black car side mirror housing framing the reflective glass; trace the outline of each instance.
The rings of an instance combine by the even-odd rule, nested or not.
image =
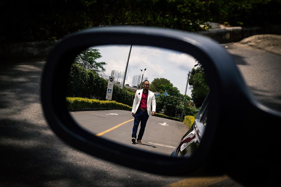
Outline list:
[[[210,87],[206,116],[208,125],[204,127],[204,136],[202,134],[200,137],[200,145],[192,155],[175,157],[135,149],[118,141],[96,136],[96,133],[81,127],[71,115],[66,101],[71,64],[85,49],[111,45],[173,50],[188,54],[201,63]],[[162,175],[183,175],[182,171],[185,171],[184,175],[189,176],[210,173],[221,175],[226,172],[224,165],[226,160],[222,159],[225,155],[222,154],[221,146],[227,145],[229,139],[235,135],[232,132],[233,123],[226,125],[225,120],[227,117],[232,119],[233,111],[237,110],[239,103],[244,103],[248,108],[257,105],[232,57],[217,42],[190,32],[138,26],[92,28],[62,39],[47,58],[42,76],[41,95],[47,122],[57,136],[70,146],[111,162]],[[262,113],[260,109],[253,108],[253,111]],[[270,114],[268,115],[268,119],[273,119]],[[194,129],[197,133],[200,129],[196,128]],[[130,138],[130,134],[128,137]],[[181,138],[179,137],[178,143]]]

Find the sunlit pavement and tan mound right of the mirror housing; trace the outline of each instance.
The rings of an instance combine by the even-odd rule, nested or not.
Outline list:
[[[254,98],[281,112],[281,36],[256,35],[222,46],[233,56]]]

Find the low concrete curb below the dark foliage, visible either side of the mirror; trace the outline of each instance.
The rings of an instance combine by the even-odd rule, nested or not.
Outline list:
[[[281,26],[267,26],[267,27],[225,27],[215,28],[206,31],[195,32],[219,43],[238,42],[249,36],[258,34],[281,34]],[[49,51],[58,42],[55,41],[38,41],[38,42],[21,42],[9,45],[1,45],[0,57],[2,59],[33,59],[41,58],[45,60]]]

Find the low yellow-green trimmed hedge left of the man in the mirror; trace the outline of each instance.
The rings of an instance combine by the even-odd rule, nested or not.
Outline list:
[[[87,98],[66,98],[67,109],[69,111],[81,111],[81,110],[128,110],[131,111],[132,107],[117,103],[116,101],[100,101],[97,99]]]

